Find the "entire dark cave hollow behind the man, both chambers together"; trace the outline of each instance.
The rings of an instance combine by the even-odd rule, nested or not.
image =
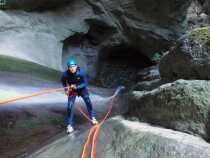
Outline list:
[[[114,88],[134,85],[139,81],[140,70],[155,65],[135,46],[105,44],[116,31],[114,28],[99,21],[87,22],[90,25],[87,33],[75,33],[63,41],[63,68],[67,59],[74,57],[87,71],[90,83]]]

